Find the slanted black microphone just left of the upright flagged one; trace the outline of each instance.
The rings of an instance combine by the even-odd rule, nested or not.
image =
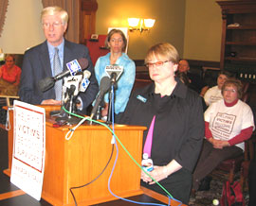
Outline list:
[[[101,78],[101,83],[100,83],[100,94],[98,94],[98,96],[96,98],[95,105],[94,105],[94,107],[92,109],[92,112],[91,112],[91,118],[94,117],[95,113],[98,110],[98,107],[101,103],[101,100],[102,100],[104,94],[109,90],[109,88],[110,88],[110,78],[109,77],[102,77]]]

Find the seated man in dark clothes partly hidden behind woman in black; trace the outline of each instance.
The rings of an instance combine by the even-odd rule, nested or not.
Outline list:
[[[190,72],[190,65],[188,60],[180,60],[178,63],[178,72],[185,73],[190,79],[189,88],[194,90],[196,93],[204,96],[209,86],[203,81],[203,79]]]

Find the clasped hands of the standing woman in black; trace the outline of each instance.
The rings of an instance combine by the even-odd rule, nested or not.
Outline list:
[[[148,173],[156,181],[164,180],[168,177],[166,166],[154,166],[154,170]],[[146,173],[144,173],[143,170],[141,170],[141,180],[149,182],[149,184],[155,184],[155,181],[152,180]]]

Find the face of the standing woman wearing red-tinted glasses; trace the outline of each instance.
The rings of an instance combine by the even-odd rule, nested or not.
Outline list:
[[[177,70],[177,64],[164,57],[152,56],[147,63],[149,75],[155,82],[163,82],[166,79],[174,78],[174,73]]]

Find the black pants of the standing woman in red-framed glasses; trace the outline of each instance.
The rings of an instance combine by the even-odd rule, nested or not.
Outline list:
[[[148,184],[144,181],[140,181],[141,186],[147,187],[150,190],[154,190],[156,193],[160,193],[164,196],[168,196],[159,185]],[[180,169],[167,179],[160,180],[159,183],[177,200],[184,204],[188,204],[190,200],[190,194],[192,189],[192,173],[186,169]],[[172,201],[171,201],[172,203]]]

